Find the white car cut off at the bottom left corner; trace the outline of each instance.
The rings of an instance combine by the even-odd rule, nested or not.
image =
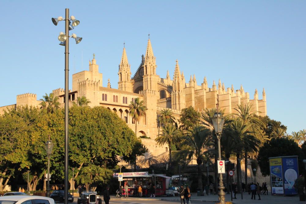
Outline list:
[[[30,195],[1,196],[0,204],[54,204],[52,198]]]

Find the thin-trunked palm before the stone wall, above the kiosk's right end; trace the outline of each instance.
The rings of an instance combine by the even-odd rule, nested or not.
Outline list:
[[[178,130],[173,123],[168,123],[162,127],[162,134],[155,139],[157,144],[169,146],[169,165],[171,166],[171,145],[177,144],[180,140],[181,131]]]

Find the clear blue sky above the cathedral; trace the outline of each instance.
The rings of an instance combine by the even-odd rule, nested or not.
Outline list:
[[[83,37],[70,42],[70,79],[88,69],[95,53],[103,86],[118,87],[123,42],[132,75],[145,54],[148,33],[157,74],[173,76],[179,60],[187,81],[198,85],[220,78],[226,87],[240,84],[259,99],[263,87],[267,112],[288,127],[305,128],[306,1],[1,1],[0,106],[16,103],[16,95],[37,99],[64,88],[64,47],[51,17],[65,8],[80,24],[70,32]],[[71,82],[71,80],[70,80]],[[70,88],[71,83],[70,83]]]

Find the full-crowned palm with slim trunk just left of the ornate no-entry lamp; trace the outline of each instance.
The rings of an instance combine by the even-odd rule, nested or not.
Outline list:
[[[204,154],[208,152],[207,149],[214,145],[213,138],[211,137],[211,130],[201,125],[194,125],[187,131],[182,145],[188,146],[187,152],[189,158],[193,157],[196,159],[198,165],[198,188],[200,189],[200,192],[202,192],[203,184],[201,164],[204,159]]]

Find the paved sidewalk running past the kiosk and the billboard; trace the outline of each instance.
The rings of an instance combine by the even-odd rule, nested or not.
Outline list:
[[[237,194],[236,198],[233,199],[233,204],[302,204],[304,202],[299,201],[300,198],[298,195],[296,196],[271,196],[271,195],[261,195],[261,200],[258,200],[258,196],[256,195],[256,200],[251,199],[251,195],[248,195],[248,193],[243,194],[243,200],[241,200],[241,194]],[[180,197],[132,197],[129,198],[116,198],[115,196],[111,196],[111,200],[121,200],[121,201],[128,201],[129,199],[135,199],[139,201],[145,201],[145,200],[163,200],[163,201],[177,201],[180,202]],[[225,196],[226,201],[231,201],[230,195],[226,194]],[[208,195],[208,196],[196,196],[193,194],[191,196],[191,202],[211,202],[211,203],[218,203],[218,195]]]

